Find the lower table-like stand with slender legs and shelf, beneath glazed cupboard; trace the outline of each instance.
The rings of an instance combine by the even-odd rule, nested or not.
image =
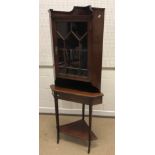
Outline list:
[[[91,131],[92,126],[92,106],[102,103],[102,93],[88,93],[77,91],[74,89],[65,89],[51,85],[51,90],[55,102],[55,117],[57,129],[57,144],[59,143],[60,133],[79,138],[83,141],[88,141],[88,153],[90,153],[91,141],[96,140],[96,135]],[[82,119],[65,124],[59,125],[59,106],[58,99],[82,103]],[[89,121],[86,123],[85,119],[85,104],[89,106]]]

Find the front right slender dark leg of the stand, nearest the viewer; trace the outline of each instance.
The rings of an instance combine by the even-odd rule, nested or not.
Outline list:
[[[88,153],[90,153],[91,145],[91,124],[92,124],[92,105],[89,105],[89,139],[88,139]]]

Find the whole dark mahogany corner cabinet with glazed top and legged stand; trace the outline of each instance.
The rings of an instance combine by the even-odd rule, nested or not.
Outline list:
[[[49,10],[53,45],[55,84],[51,85],[55,101],[57,143],[60,133],[88,141],[97,139],[92,132],[92,108],[101,104],[101,69],[104,8],[74,7],[72,11]],[[82,118],[60,125],[58,100],[81,103]],[[85,105],[89,121],[85,121]]]

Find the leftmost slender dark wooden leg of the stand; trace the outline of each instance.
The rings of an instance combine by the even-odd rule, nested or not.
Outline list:
[[[59,143],[59,107],[58,107],[58,98],[54,95],[55,101],[55,116],[56,116],[56,129],[57,129],[57,144]]]

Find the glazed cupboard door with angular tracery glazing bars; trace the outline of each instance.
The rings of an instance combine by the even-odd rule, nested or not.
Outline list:
[[[88,81],[88,22],[55,20],[53,24],[57,77]]]

